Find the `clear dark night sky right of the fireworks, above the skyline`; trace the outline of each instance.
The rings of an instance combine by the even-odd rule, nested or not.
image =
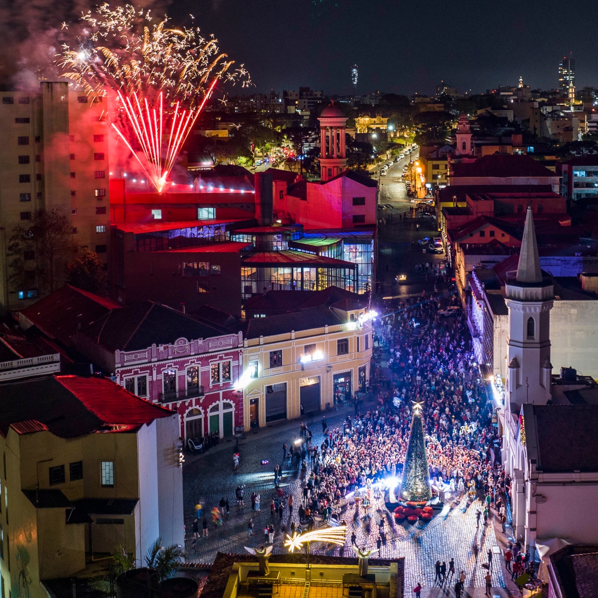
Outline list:
[[[476,93],[520,75],[552,89],[569,51],[576,87],[598,84],[595,0],[175,0],[168,12],[215,33],[254,91],[352,93],[353,63],[358,93],[430,94],[441,79]]]

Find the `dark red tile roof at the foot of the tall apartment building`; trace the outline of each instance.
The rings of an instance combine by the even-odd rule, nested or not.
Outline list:
[[[25,328],[29,322],[48,337],[71,346],[71,338],[77,334],[78,329],[87,328],[106,313],[121,307],[120,303],[106,297],[65,285],[31,307],[23,309],[19,321],[22,325],[25,324]]]

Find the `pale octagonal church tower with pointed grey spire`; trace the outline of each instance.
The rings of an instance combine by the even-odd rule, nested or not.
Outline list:
[[[521,405],[545,405],[550,399],[550,310],[554,288],[542,277],[532,208],[527,206],[521,253],[515,277],[506,285],[509,310],[508,373],[505,405],[518,414]]]

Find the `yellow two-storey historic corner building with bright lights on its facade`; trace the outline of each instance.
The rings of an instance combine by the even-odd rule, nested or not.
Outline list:
[[[342,300],[249,320],[239,383],[245,429],[324,411],[365,390],[375,315],[365,302]]]

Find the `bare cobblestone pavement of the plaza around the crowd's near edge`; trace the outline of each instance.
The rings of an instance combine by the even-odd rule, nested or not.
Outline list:
[[[374,406],[374,404],[371,404]],[[365,404],[366,410],[370,405]],[[348,410],[332,411],[327,414],[329,426],[340,426]],[[352,411],[351,411],[352,413]],[[324,440],[319,419],[306,419],[310,430],[313,432],[313,443]],[[282,463],[282,445],[290,444],[300,438],[299,421],[288,422],[279,428],[268,429],[247,435],[246,440],[239,444],[241,455],[240,467],[237,474],[233,472],[234,441],[220,444],[200,457],[187,457],[188,463],[184,468],[184,493],[185,493],[185,523],[187,526],[186,551],[187,559],[195,562],[212,562],[216,552],[240,553],[243,547],[258,547],[264,544],[263,529],[266,524],[274,524],[274,553],[283,552],[283,534],[281,524],[289,529],[288,507],[285,508],[283,519],[270,514],[270,501],[274,494],[274,466]],[[267,460],[267,465],[261,462]],[[285,467],[288,461],[285,461]],[[309,470],[308,470],[309,472]],[[292,520],[298,523],[297,508],[302,499],[300,487],[301,478],[296,471],[284,470],[282,483],[279,483],[285,492],[294,495],[295,505]],[[238,506],[235,499],[235,489],[242,485],[245,505]],[[259,492],[261,495],[261,511],[251,510],[251,493]],[[221,526],[215,526],[209,514],[210,509],[217,506],[221,498],[228,498],[230,514],[224,515]],[[205,505],[205,514],[209,521],[207,538],[199,538],[193,543],[191,524],[194,518],[194,505],[201,501]],[[376,548],[378,539],[378,523],[380,518],[385,520],[387,536],[386,546],[383,545],[379,555],[382,558],[405,557],[405,588],[411,588],[418,581],[424,587],[431,587],[435,581],[434,564],[437,560],[449,563],[454,558],[457,574],[464,570],[466,574],[465,587],[484,587],[486,569],[482,563],[488,560],[489,550],[498,550],[495,531],[492,524],[484,526],[480,522],[477,527],[476,512],[480,508],[479,502],[468,506],[467,499],[446,505],[444,510],[436,515],[427,524],[401,524],[395,523],[392,515],[386,509],[381,498],[371,509],[370,524],[364,522],[363,511],[360,517],[354,520],[355,501],[349,495],[348,499],[341,500],[341,518],[347,522],[347,542],[344,547],[344,556],[353,556],[350,548],[350,537],[356,535],[356,544],[359,547]],[[249,536],[249,519],[254,520],[254,535]],[[201,533],[201,522],[200,522]],[[474,556],[474,543],[480,548],[480,555]],[[339,554],[339,548],[334,547],[327,551],[327,547],[313,545],[313,553]],[[505,579],[500,566],[500,555],[494,554],[494,567],[492,570],[493,587],[504,587]],[[454,585],[454,578],[453,578]],[[436,584],[438,586],[438,584]],[[407,594],[408,595],[408,594]]]

